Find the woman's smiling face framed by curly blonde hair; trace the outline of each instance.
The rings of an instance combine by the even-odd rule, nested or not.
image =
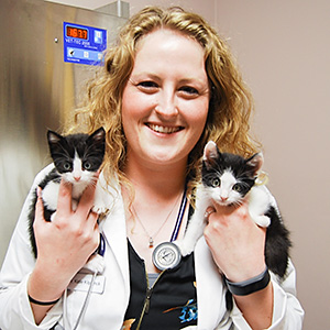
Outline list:
[[[129,164],[186,166],[204,131],[208,106],[199,43],[167,29],[142,37],[122,97]]]

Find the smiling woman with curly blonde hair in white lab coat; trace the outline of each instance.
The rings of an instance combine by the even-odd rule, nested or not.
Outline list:
[[[185,197],[191,201],[206,142],[242,155],[256,148],[249,136],[251,97],[216,32],[180,9],[146,8],[109,50],[89,99],[82,111],[89,130],[107,131],[99,179],[108,185],[110,212],[98,224],[90,211],[92,187],[73,212],[70,187],[62,184],[50,223],[38,198],[34,262],[25,234],[28,198],[1,273],[2,330],[75,324],[300,329],[304,312],[294,295],[292,265],[280,285],[272,276],[263,289],[234,296],[231,312],[226,309],[222,274],[240,283],[265,270],[265,230],[250,219],[246,205],[215,205],[193,254],[165,272],[153,263],[156,246],[184,235],[191,210]],[[36,177],[31,191],[48,170]],[[87,294],[92,278],[85,264],[99,245],[99,232],[106,242],[105,267]]]

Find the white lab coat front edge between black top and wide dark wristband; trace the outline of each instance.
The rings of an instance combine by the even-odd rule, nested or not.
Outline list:
[[[197,282],[198,329],[216,329],[226,314],[226,301],[221,275],[211,252],[201,238],[195,249]]]

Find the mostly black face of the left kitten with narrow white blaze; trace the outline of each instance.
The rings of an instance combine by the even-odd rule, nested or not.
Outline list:
[[[105,155],[105,130],[91,135],[73,134],[62,136],[48,132],[48,144],[54,164],[63,178],[75,185],[94,180]]]

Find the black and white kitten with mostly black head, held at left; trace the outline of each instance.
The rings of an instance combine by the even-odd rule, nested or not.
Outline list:
[[[66,136],[48,131],[47,140],[55,167],[45,176],[38,186],[42,188],[44,218],[45,220],[51,221],[52,215],[56,211],[62,178],[73,185],[73,210],[77,208],[79,198],[86,187],[96,184],[96,173],[100,168],[105,157],[106,131],[103,128],[100,128],[90,135],[77,133]],[[35,257],[37,251],[33,222],[36,198],[35,191],[29,213],[29,233]],[[92,210],[99,215],[107,210],[102,199],[102,188],[98,184]]]

